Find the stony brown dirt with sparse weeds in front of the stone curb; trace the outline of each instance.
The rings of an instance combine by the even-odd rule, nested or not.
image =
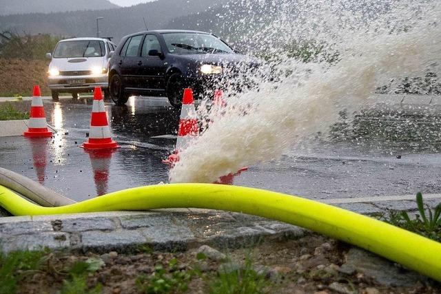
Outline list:
[[[253,248],[223,251],[226,258],[213,258],[208,254],[208,258],[205,255],[201,258],[198,249],[167,253],[141,248],[138,253],[131,255],[116,252],[101,255],[56,253],[48,260],[50,270],[25,276],[20,293],[59,293],[63,280],[70,279],[65,269],[72,267],[75,262],[91,258],[103,260],[105,264],[87,275],[88,289],[101,284],[98,293],[441,293],[440,284],[432,280],[418,281],[409,287],[393,287],[378,284],[372,277],[362,273],[342,273],[340,266],[345,263],[349,248],[342,242],[307,235],[300,240],[265,241]],[[251,275],[254,283],[259,285],[260,281],[261,286],[257,286],[259,291],[248,288],[248,291],[225,292],[225,288],[219,288],[225,281],[235,283],[234,279],[228,280],[220,273],[238,270],[239,276],[246,280],[247,260],[251,263],[252,273],[256,274]],[[164,273],[159,273],[158,266],[164,269]],[[155,279],[155,275],[161,275],[160,279]],[[144,280],[141,281],[144,282],[140,283],[140,276],[143,276]],[[155,292],[152,288],[146,288],[149,283],[156,286],[173,283],[167,277],[183,282],[188,286],[187,290],[172,286],[166,291]],[[244,285],[249,286],[244,282],[241,287]]]

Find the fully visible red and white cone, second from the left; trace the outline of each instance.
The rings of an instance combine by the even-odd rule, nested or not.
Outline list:
[[[95,87],[94,90],[89,140],[80,147],[84,149],[112,149],[119,147],[118,144],[110,138],[110,128],[104,109],[101,87]]]

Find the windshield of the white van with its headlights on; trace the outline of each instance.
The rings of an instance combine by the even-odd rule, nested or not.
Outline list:
[[[100,57],[104,54],[103,41],[63,41],[55,48],[54,58]]]

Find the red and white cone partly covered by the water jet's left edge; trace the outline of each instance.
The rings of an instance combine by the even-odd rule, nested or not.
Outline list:
[[[178,138],[173,153],[163,160],[167,165],[174,165],[179,161],[179,152],[187,148],[189,143],[199,134],[198,117],[194,108],[192,89],[185,89],[182,99],[181,118],[179,119]]]

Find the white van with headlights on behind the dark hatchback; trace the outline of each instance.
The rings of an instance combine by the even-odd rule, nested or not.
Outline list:
[[[109,96],[107,71],[116,45],[108,39],[73,38],[59,41],[48,70],[52,99],[59,100],[59,93],[72,93],[77,98],[81,92],[102,87],[105,98]]]

